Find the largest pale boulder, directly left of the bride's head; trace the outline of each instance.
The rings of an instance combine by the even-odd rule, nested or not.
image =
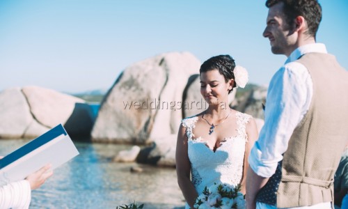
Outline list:
[[[126,68],[107,93],[93,127],[93,141],[146,144],[175,134],[182,119],[182,92],[200,61],[168,53]]]

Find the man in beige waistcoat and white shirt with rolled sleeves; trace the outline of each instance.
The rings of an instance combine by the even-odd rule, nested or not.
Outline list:
[[[331,208],[333,175],[348,143],[348,72],[316,43],[316,0],[266,6],[263,36],[287,61],[271,79],[264,127],[248,158],[248,208]]]

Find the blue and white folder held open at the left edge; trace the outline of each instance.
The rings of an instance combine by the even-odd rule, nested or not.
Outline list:
[[[49,163],[56,169],[77,155],[79,151],[59,124],[0,160],[0,186],[23,180]]]

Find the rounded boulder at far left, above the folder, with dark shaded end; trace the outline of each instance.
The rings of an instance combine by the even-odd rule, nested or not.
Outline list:
[[[66,125],[70,137],[89,137],[94,122],[91,112],[84,100],[51,89],[6,89],[0,93],[0,138],[35,138],[59,123]]]

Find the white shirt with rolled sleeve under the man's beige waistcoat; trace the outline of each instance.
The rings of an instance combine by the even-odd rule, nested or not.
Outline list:
[[[324,44],[303,45],[290,54],[271,79],[264,111],[264,126],[248,158],[251,169],[258,176],[269,178],[276,172],[292,132],[310,107],[313,97],[312,79],[304,65],[294,62],[309,52],[327,53]],[[324,208],[331,208],[331,203],[321,203],[315,208],[321,208],[322,204]],[[258,208],[274,206],[258,203]]]

